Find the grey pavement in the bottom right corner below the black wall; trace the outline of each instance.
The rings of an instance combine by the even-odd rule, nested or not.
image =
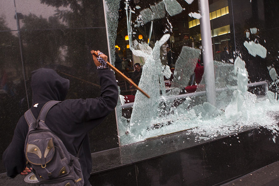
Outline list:
[[[260,168],[254,172],[251,172],[245,176],[242,176],[222,186],[278,186],[279,185],[279,161]]]

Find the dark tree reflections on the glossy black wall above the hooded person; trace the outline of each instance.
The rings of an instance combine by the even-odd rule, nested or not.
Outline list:
[[[99,10],[94,3],[87,0],[41,0],[41,3],[56,7],[57,10],[56,14],[48,19],[34,14],[25,15],[22,19],[24,23],[21,28],[23,55],[28,71],[46,64],[59,64],[61,54],[59,49],[65,46],[67,48],[66,63],[72,64],[72,67],[76,69],[87,67],[92,57],[85,54],[90,52],[91,47],[88,43],[91,43],[90,38],[93,38],[95,33],[89,35],[86,29],[66,28],[92,27],[94,22],[90,17],[103,14],[103,10]],[[69,10],[59,10],[59,7],[67,7]]]

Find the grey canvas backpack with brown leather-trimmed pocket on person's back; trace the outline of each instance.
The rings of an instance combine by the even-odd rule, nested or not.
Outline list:
[[[39,181],[39,185],[79,186],[84,184],[77,157],[70,154],[63,142],[45,124],[48,111],[61,101],[49,101],[36,119],[31,109],[24,113],[29,125],[24,153],[27,166]],[[82,141],[83,142],[83,141]]]

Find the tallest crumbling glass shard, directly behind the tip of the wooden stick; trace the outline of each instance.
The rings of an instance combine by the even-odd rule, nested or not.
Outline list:
[[[160,48],[169,39],[169,36],[169,34],[165,34],[157,41],[151,55],[145,59],[138,86],[142,87],[150,95],[150,98],[147,98],[139,91],[136,93],[130,120],[130,132],[135,136],[141,135],[141,132],[151,125],[152,120],[160,115],[160,96],[165,94]],[[137,51],[133,51],[133,53],[137,55]]]

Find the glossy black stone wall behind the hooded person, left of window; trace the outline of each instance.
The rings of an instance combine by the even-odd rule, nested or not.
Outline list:
[[[16,9],[16,16],[15,16]],[[103,1],[0,0],[0,173],[16,123],[31,106],[30,74],[55,69],[70,80],[67,98],[100,95],[90,54],[108,54]],[[92,152],[118,147],[115,113],[90,132]]]

